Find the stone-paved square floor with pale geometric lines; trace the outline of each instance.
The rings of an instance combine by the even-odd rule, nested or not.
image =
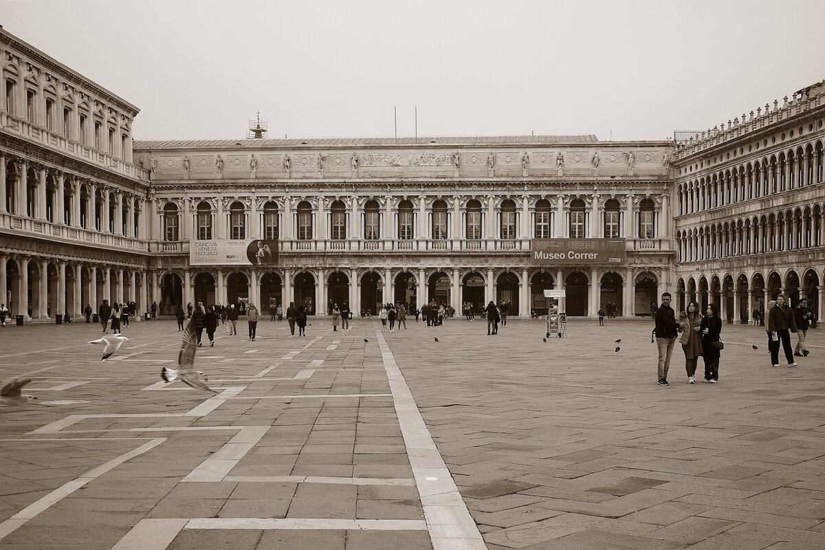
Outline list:
[[[822,329],[775,369],[726,325],[719,384],[677,348],[662,388],[649,321],[311,322],[219,327],[214,395],[159,382],[174,322],[105,363],[95,325],[0,329],[40,397],[0,409],[0,548],[825,547]]]

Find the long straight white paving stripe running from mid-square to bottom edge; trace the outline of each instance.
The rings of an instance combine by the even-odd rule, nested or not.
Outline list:
[[[487,550],[381,331],[375,331],[433,550]]]

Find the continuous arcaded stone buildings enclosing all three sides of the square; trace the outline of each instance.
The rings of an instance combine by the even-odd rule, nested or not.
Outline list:
[[[316,315],[493,300],[530,317],[545,289],[570,316],[649,315],[669,290],[742,321],[785,291],[821,317],[822,83],[676,141],[134,142],[135,106],[0,45],[0,303],[26,320],[103,299]],[[540,258],[548,242],[569,253]]]

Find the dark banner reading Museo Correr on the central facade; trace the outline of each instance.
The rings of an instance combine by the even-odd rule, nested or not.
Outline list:
[[[622,264],[627,259],[623,238],[533,239],[530,260],[534,266]]]

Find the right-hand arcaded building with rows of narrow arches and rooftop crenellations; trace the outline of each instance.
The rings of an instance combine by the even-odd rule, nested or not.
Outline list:
[[[678,303],[746,321],[783,293],[822,318],[825,81],[677,149]]]

